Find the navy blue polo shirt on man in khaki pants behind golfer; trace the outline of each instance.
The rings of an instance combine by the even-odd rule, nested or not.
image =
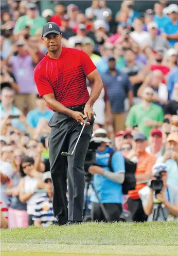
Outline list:
[[[107,87],[112,113],[124,112],[124,100],[133,86],[127,73],[118,72],[112,76],[110,71],[101,75],[103,84]]]

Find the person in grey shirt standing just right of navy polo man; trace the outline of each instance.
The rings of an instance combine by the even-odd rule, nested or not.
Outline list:
[[[122,71],[129,75],[130,82],[133,85],[134,98],[137,98],[138,88],[144,81],[143,64],[135,61],[136,54],[131,48],[124,51],[123,56],[126,61],[126,68],[123,68]],[[139,101],[134,99],[134,103],[137,102]]]

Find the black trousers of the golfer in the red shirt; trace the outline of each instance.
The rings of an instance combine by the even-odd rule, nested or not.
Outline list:
[[[85,126],[73,156],[62,156],[61,152],[72,152],[82,125],[74,119],[55,112],[49,121],[49,162],[53,185],[53,210],[59,223],[67,220],[81,221],[84,201],[84,159],[93,133],[93,122]],[[69,202],[66,191],[68,177]],[[68,209],[67,209],[68,204]]]

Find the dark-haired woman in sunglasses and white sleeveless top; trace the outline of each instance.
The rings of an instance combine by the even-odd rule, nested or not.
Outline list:
[[[32,215],[37,198],[41,195],[37,190],[45,188],[41,174],[34,169],[32,157],[24,156],[20,165],[21,181],[19,185],[19,199],[22,203],[27,203],[28,225],[33,225]]]

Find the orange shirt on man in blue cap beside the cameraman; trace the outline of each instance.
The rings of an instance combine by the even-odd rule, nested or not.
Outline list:
[[[138,157],[138,163],[135,174],[151,173],[152,167],[156,162],[156,157],[152,154],[148,154],[146,151]],[[138,199],[138,191],[145,187],[147,183],[136,183],[134,190],[130,190],[128,195],[132,199]]]

